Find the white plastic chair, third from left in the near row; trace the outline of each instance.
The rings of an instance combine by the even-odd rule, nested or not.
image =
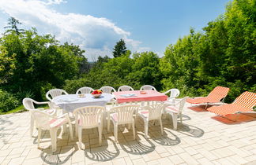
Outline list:
[[[110,130],[111,120],[114,124],[115,141],[118,140],[118,126],[120,124],[132,124],[135,139],[134,112],[136,112],[138,108],[139,105],[122,105],[107,111],[107,130]]]

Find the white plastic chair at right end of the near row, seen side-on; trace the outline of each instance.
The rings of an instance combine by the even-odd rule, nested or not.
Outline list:
[[[179,108],[177,108],[175,105],[174,106],[168,106],[165,108],[165,111],[171,115],[172,117],[172,123],[173,123],[173,129],[177,130],[177,118],[179,117],[180,123],[183,123],[183,108],[186,102],[186,99],[188,97],[184,97],[181,99],[178,103],[175,105],[179,105]]]

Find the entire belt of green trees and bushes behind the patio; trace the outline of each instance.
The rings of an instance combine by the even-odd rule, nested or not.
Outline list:
[[[82,86],[129,85],[138,90],[149,84],[157,90],[178,88],[183,97],[227,86],[228,102],[245,90],[256,91],[255,0],[228,3],[223,15],[201,32],[191,28],[189,35],[166,48],[162,58],[152,52],[131,54],[121,39],[114,58],[99,57],[92,67],[79,46],[61,45],[52,35],[38,35],[36,29],[21,31],[13,19],[9,23],[0,39],[0,89],[8,96],[0,101],[4,111],[17,105],[15,97],[43,100],[55,87],[74,94]]]

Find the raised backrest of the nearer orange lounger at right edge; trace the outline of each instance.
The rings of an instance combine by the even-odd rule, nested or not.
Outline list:
[[[256,106],[256,94],[253,92],[244,92],[233,102],[234,105],[239,105],[243,108],[253,109]]]

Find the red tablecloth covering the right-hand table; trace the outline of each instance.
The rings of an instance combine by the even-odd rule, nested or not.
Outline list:
[[[157,92],[156,90],[144,90],[147,94],[141,94],[140,90],[114,92],[114,96],[118,103],[130,101],[167,101],[168,96]],[[135,94],[133,97],[124,97],[123,94]]]

